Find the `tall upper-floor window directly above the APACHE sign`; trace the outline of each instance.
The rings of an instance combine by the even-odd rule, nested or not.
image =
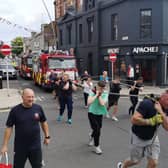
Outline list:
[[[152,38],[152,10],[145,9],[140,11],[140,38]]]

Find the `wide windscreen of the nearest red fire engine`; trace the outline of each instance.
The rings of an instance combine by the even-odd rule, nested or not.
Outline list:
[[[66,69],[66,68],[75,68],[75,59],[57,59],[49,58],[48,68],[49,69]]]

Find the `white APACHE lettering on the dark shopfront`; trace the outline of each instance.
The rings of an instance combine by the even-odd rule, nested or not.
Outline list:
[[[157,53],[159,52],[158,46],[150,46],[150,47],[134,47],[132,50],[133,54],[140,54],[140,53]]]

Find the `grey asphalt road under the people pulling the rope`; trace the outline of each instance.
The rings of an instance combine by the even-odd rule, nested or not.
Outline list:
[[[5,82],[4,87],[5,87]],[[48,118],[51,134],[51,144],[44,146],[44,160],[47,168],[116,168],[118,161],[129,155],[129,130],[131,127],[128,116],[129,100],[121,98],[119,101],[118,122],[104,118],[101,148],[102,155],[96,155],[92,148],[88,147],[88,133],[90,131],[87,118],[87,109],[84,108],[83,94],[81,91],[74,93],[73,123],[68,125],[66,121],[66,111],[64,121],[58,123],[58,106],[51,93],[43,91],[34,86],[29,80],[11,80],[11,88],[31,87],[35,90],[36,103],[41,104]],[[0,113],[0,141],[7,113]],[[168,134],[162,128],[159,130],[161,141],[161,155],[159,168],[167,168],[168,160]],[[9,144],[10,160],[12,160],[13,137]],[[145,168],[146,160],[142,160],[139,168]],[[26,168],[30,168],[29,163]]]

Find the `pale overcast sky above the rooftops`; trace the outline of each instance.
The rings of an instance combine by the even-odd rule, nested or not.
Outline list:
[[[18,36],[29,37],[30,30],[40,32],[40,25],[50,22],[42,0],[0,1],[0,40],[6,43]],[[54,0],[44,1],[54,20]]]

